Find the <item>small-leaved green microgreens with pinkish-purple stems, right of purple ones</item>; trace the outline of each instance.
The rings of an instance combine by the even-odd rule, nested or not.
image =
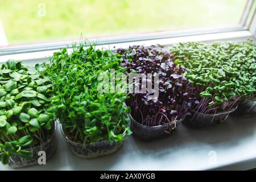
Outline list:
[[[180,43],[170,49],[175,63],[189,72],[183,75],[196,87],[205,114],[229,111],[246,96],[255,95],[255,44]]]

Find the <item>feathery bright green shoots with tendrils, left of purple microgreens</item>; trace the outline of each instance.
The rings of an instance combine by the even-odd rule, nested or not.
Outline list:
[[[93,44],[74,45],[71,55],[66,48],[55,52],[47,75],[52,80],[55,97],[51,113],[59,118],[64,133],[74,142],[93,143],[101,140],[123,140],[130,134],[129,107],[123,105],[125,93],[99,93],[98,75],[124,72],[121,60],[110,50],[96,49]]]

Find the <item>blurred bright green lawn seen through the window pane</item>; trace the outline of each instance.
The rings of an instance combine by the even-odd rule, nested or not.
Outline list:
[[[238,24],[246,0],[0,0],[9,44]]]

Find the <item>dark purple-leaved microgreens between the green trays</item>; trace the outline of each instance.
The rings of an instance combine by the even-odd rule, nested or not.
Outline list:
[[[123,54],[121,66],[127,73],[152,73],[159,75],[159,96],[151,98],[151,93],[131,94],[126,104],[131,107],[131,115],[146,126],[164,125],[184,118],[188,107],[197,104],[194,88],[182,74],[183,66],[172,61],[172,55],[161,47],[132,46],[117,49]],[[140,83],[141,88],[141,83]]]

